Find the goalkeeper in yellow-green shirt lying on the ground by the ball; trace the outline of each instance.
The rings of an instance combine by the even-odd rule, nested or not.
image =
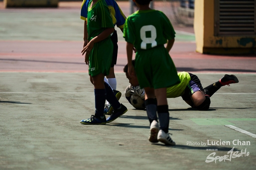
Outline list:
[[[134,64],[135,61],[132,61]],[[131,84],[125,90],[125,97],[131,103],[131,95],[140,96],[142,99],[145,98],[145,93],[143,89],[140,89],[138,79],[135,77],[130,77],[128,75],[128,65],[124,66],[124,72],[126,77]],[[189,72],[179,72],[180,83],[167,88],[167,98],[177,98],[182,97],[182,99],[191,107],[197,108],[198,110],[208,110],[210,107],[210,97],[219,90],[222,86],[238,83],[238,78],[235,75],[225,74],[219,81],[202,88],[202,84],[199,78]]]

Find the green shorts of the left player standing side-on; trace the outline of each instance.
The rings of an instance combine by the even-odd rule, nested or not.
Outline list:
[[[112,53],[113,43],[109,37],[95,43],[89,55],[89,75],[92,77],[100,73],[105,76],[108,75],[112,62]]]

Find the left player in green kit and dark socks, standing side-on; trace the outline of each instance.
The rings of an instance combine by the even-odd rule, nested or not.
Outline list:
[[[89,65],[89,75],[94,85],[95,114],[89,119],[81,120],[82,124],[102,125],[114,121],[127,111],[120,104],[112,88],[104,82],[104,76],[109,74],[113,43],[110,34],[114,32],[114,25],[105,0],[91,0],[88,4],[88,43],[82,50],[85,63]],[[108,119],[104,115],[105,100],[108,100],[114,111]]]

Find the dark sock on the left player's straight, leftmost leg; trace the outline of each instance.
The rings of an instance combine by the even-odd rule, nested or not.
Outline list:
[[[98,117],[104,116],[104,105],[106,101],[105,89],[94,89],[95,95],[95,115]]]

